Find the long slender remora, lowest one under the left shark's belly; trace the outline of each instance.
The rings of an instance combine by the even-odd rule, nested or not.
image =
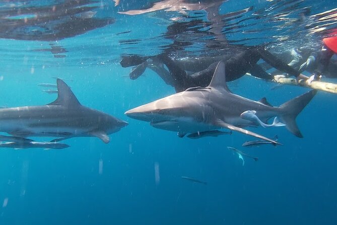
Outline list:
[[[68,144],[57,142],[38,142],[38,141],[25,141],[25,142],[2,142],[0,148],[47,148],[47,149],[62,149],[70,147]]]

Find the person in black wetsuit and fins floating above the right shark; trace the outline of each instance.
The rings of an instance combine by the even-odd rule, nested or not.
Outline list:
[[[137,57],[133,57],[133,60],[130,59],[132,59],[132,57],[128,59],[124,58],[121,62],[121,65],[123,67],[126,65],[131,65],[130,62],[136,65],[139,64],[139,66],[136,67],[130,74],[131,79],[136,79],[145,70],[142,69],[144,68],[144,65],[142,64],[148,64],[149,61]],[[257,65],[257,62],[260,59],[264,60],[266,63],[275,67],[278,70],[295,76],[297,79],[308,79],[308,77],[300,74],[298,71],[288,66],[282,60],[275,57],[272,53],[265,50],[264,47],[247,47],[247,49],[234,55],[234,57],[226,56],[211,57],[200,60],[193,59],[192,63],[190,61],[185,61],[186,64],[194,64],[195,67],[198,67],[199,69],[201,69],[201,67],[206,68],[201,69],[201,71],[193,74],[188,74],[184,69],[181,68],[181,66],[179,66],[181,62],[172,60],[165,53],[157,55],[156,57],[152,57],[151,59],[151,66],[147,65],[150,69],[153,69],[153,67],[163,68],[162,66],[158,66],[162,64],[164,64],[168,68],[170,76],[167,76],[167,73],[166,75],[159,75],[166,83],[174,86],[176,92],[184,91],[190,87],[208,86],[216,69],[216,66],[220,61],[224,61],[225,63],[226,79],[228,81],[236,80],[245,75],[247,72],[250,72],[251,75],[261,79],[273,80],[273,75],[266,73],[260,66]],[[201,65],[201,67],[199,65]],[[141,68],[141,70],[137,70],[138,68]],[[133,76],[136,74],[137,76]]]

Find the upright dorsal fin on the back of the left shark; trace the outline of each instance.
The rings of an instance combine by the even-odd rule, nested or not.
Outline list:
[[[67,107],[76,107],[81,105],[73,91],[68,85],[66,85],[66,83],[64,83],[64,81],[57,79],[56,82],[58,96],[55,101],[49,103],[48,105],[63,105]]]

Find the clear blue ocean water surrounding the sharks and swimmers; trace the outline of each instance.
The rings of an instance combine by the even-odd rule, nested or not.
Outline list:
[[[241,6],[229,1],[220,12],[249,6],[258,12],[269,2],[287,1],[243,2]],[[335,1],[289,2],[311,7],[310,15],[336,8]],[[337,223],[335,94],[318,92],[298,116],[304,138],[295,137],[284,127],[250,129],[268,137],[278,134],[282,146],[244,148],[242,143],[253,138],[235,132],[217,138],[178,138],[175,132],[155,129],[124,115],[130,108],[175,93],[174,89],[149,69],[146,76],[130,80],[130,68],[119,65],[122,54],[155,55],[165,49],[172,42],[161,36],[172,23],[166,17],[178,13],[119,15],[117,11],[137,6],[130,4],[126,9],[122,1],[120,8],[110,1],[100,4],[104,6],[96,16],[115,17],[113,24],[60,40],[0,39],[0,105],[50,103],[56,95],[42,92],[37,84],[55,83],[53,77],[60,77],[83,105],[129,123],[111,134],[108,144],[82,137],[63,141],[71,147],[60,150],[1,149],[0,224]],[[147,1],[137,4],[148,6]],[[279,29],[280,35],[296,31]],[[130,32],[116,35],[125,31]],[[268,32],[254,33],[258,34],[263,39]],[[237,37],[235,33],[228,35],[232,40]],[[301,40],[290,35],[289,42],[283,44],[301,43],[306,35]],[[319,39],[319,35],[312,36]],[[246,37],[238,38],[244,42]],[[139,40],[137,44],[121,42],[127,39]],[[67,52],[56,55],[65,57],[34,51],[50,49],[50,44],[64,47]],[[293,86],[271,90],[275,84],[251,77],[228,85],[235,94],[254,100],[266,97],[273,105],[308,91]],[[242,165],[227,146],[259,160],[246,158]],[[182,176],[206,181],[207,185],[183,180]]]

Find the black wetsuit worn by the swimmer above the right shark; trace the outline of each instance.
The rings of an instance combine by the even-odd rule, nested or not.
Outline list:
[[[219,62],[212,63],[207,69],[194,73],[192,75],[187,75],[187,73],[182,70],[177,64],[168,57],[167,54],[161,54],[157,57],[159,61],[166,65],[169,69],[171,76],[174,80],[174,87],[177,92],[184,91],[189,87],[206,87],[210,84],[214,71]],[[281,70],[285,73],[293,75],[295,77],[299,76],[299,72],[289,67],[286,63],[276,58],[273,54],[266,51],[262,47],[248,48],[247,50],[234,55],[231,59],[224,61],[226,80],[233,81],[236,80],[247,72],[250,72],[253,76],[273,80],[271,74],[266,73],[262,68],[260,68],[256,63],[263,59],[269,65]]]

